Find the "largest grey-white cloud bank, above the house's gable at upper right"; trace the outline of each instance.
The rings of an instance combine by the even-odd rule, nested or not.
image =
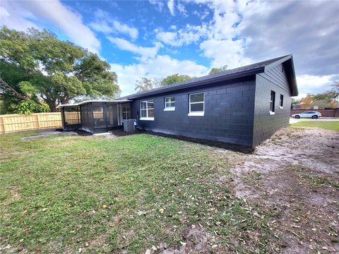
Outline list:
[[[213,12],[207,39],[200,44],[213,66],[233,68],[293,54],[302,95],[329,90],[334,78],[339,78],[339,5],[335,1],[194,2],[206,4]],[[195,14],[201,16],[199,11]]]

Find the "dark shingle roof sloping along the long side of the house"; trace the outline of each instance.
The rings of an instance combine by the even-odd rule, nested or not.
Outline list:
[[[246,75],[254,75],[255,73],[263,72],[266,66],[269,66],[269,65],[271,65],[275,62],[281,61],[283,59],[286,59],[286,61],[287,61],[288,59],[292,59],[292,56],[291,55],[280,56],[280,57],[277,57],[275,59],[269,59],[269,60],[266,60],[266,61],[261,61],[261,62],[258,62],[258,63],[249,64],[247,66],[242,66],[242,67],[239,67],[239,68],[233,68],[233,69],[230,69],[230,70],[222,71],[220,73],[213,73],[213,74],[210,74],[210,75],[204,75],[204,76],[199,77],[199,78],[192,78],[191,80],[186,80],[184,82],[175,83],[173,85],[167,85],[167,86],[164,86],[164,87],[157,87],[157,88],[154,88],[152,90],[145,91],[145,92],[138,92],[136,94],[121,97],[119,99],[123,99],[123,98],[136,99],[138,97],[155,95],[155,94],[160,93],[160,92],[169,92],[169,91],[172,91],[172,90],[184,89],[184,88],[192,87],[192,86],[196,86],[196,85],[204,85],[204,84],[207,84],[207,83],[218,82],[220,80],[227,80],[227,79],[231,79],[231,78],[239,78],[239,77],[244,77]],[[293,69],[293,75],[295,75],[294,69]],[[295,85],[295,87],[296,87],[296,85]]]

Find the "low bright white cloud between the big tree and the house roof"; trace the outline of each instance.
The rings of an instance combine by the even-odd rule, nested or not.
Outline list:
[[[154,59],[148,59],[131,65],[120,65],[111,63],[112,71],[118,75],[118,83],[121,88],[121,95],[131,95],[134,92],[136,80],[140,77],[147,78],[165,78],[174,73],[186,74],[191,76],[206,75],[208,68],[199,65],[194,61],[179,61],[167,55],[158,55]]]

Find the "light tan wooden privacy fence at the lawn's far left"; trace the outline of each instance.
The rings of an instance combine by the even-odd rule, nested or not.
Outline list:
[[[0,134],[61,127],[60,112],[0,115]]]

